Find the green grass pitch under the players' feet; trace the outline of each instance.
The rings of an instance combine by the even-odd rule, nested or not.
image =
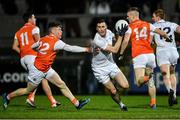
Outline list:
[[[90,103],[77,111],[75,107],[63,96],[55,96],[62,105],[51,108],[46,96],[36,96],[37,108],[27,107],[25,97],[18,97],[11,101],[7,110],[0,109],[0,118],[51,118],[51,119],[180,119],[180,105],[168,107],[167,96],[157,97],[157,109],[149,107],[149,96],[124,96],[123,101],[128,111],[123,112],[108,96],[77,96],[78,98],[91,98]],[[180,98],[179,98],[180,99]],[[2,98],[0,98],[2,101]]]

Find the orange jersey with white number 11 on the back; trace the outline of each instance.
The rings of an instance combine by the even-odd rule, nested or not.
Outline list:
[[[24,57],[25,55],[37,55],[37,53],[31,48],[32,44],[34,44],[35,42],[32,34],[32,31],[35,27],[36,27],[35,25],[26,23],[15,34],[19,42],[21,58]]]

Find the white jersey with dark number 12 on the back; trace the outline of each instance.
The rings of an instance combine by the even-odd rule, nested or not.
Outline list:
[[[156,26],[160,30],[163,30],[164,32],[166,32],[167,35],[173,40],[172,42],[166,42],[165,38],[163,38],[159,34],[155,33],[154,38],[155,38],[155,42],[157,44],[157,47],[159,47],[159,49],[176,47],[174,32],[176,31],[178,24],[173,23],[173,22],[169,22],[169,21],[165,21],[162,19],[162,20],[154,23],[154,26]]]

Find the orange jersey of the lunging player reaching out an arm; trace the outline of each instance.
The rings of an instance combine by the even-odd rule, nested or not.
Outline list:
[[[59,39],[54,35],[47,35],[40,40],[40,47],[37,57],[35,59],[35,67],[42,71],[47,72],[56,57],[54,45]]]

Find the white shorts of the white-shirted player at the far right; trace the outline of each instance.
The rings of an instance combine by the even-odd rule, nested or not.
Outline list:
[[[175,65],[177,64],[179,54],[176,49],[166,49],[157,51],[156,57],[158,66],[163,64]]]

